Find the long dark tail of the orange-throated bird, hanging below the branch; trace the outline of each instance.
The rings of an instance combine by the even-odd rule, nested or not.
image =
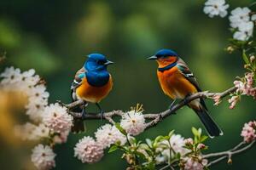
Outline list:
[[[196,112],[197,116],[199,116],[201,122],[206,127],[207,133],[209,134],[210,138],[223,135],[222,130],[218,127],[218,125],[212,120],[212,117],[208,114],[205,105],[200,105],[200,108],[193,108],[193,110]]]

